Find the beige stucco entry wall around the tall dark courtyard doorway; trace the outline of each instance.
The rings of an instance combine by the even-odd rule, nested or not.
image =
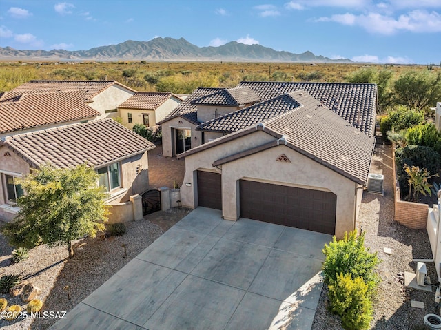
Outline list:
[[[174,136],[172,134],[173,128],[185,128],[192,130],[192,148],[201,145],[202,143],[201,131],[196,131],[196,126],[193,125],[192,123],[189,123],[185,119],[181,117],[176,117],[162,124],[163,156],[167,156],[167,157],[175,156],[173,154],[173,146],[174,146]]]

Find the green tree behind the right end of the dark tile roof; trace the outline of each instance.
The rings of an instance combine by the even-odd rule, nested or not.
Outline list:
[[[393,72],[391,70],[378,70],[376,68],[361,68],[351,72],[346,80],[349,83],[376,83],[378,88],[378,105],[384,109],[391,105],[392,92],[389,87]]]

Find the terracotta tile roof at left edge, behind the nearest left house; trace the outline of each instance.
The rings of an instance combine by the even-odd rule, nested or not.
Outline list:
[[[83,100],[85,91],[23,94],[5,92],[0,97],[0,134],[99,116]]]

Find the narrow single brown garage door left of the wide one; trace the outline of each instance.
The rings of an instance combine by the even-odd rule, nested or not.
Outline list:
[[[198,171],[198,205],[222,209],[222,185],[218,173]]]

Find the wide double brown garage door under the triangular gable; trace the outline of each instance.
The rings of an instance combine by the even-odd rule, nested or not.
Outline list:
[[[320,190],[240,180],[240,216],[335,234],[337,196]]]

